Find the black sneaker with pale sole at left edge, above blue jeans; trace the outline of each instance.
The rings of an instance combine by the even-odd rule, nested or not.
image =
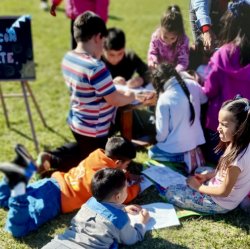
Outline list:
[[[28,179],[25,176],[25,168],[14,163],[0,163],[0,171],[5,174],[6,182],[10,189],[13,189],[18,183],[27,184]]]

